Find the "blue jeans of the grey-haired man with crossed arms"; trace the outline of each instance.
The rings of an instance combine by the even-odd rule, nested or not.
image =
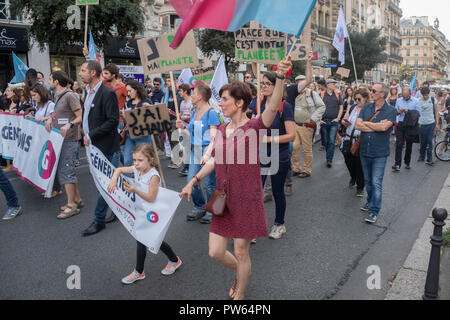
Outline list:
[[[361,156],[364,182],[367,191],[367,203],[369,205],[369,211],[375,215],[378,215],[381,211],[383,177],[386,162],[387,157],[368,158]]]

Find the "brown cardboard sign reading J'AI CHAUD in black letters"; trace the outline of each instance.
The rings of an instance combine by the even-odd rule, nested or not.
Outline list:
[[[165,104],[126,110],[123,114],[132,139],[160,134],[172,129],[169,110]]]

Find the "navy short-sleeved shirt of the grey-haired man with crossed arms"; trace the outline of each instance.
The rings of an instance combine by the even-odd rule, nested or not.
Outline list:
[[[395,108],[385,102],[379,111],[380,112],[377,117],[372,121],[373,123],[387,120],[395,124],[395,118],[397,116],[397,111]],[[362,108],[359,113],[359,118],[363,121],[370,121],[374,115],[375,103],[369,103]],[[392,128],[393,127],[389,128],[389,130],[386,130],[385,132],[362,132],[359,147],[360,154],[368,158],[388,157],[390,155],[389,137]]]

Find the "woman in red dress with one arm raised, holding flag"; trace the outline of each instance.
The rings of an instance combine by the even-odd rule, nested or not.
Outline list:
[[[220,90],[220,106],[224,116],[231,118],[231,122],[219,126],[212,157],[180,193],[180,197],[187,195],[190,201],[194,185],[216,171],[217,188],[226,192],[227,206],[223,216],[213,216],[209,234],[209,255],[236,274],[236,280],[229,292],[230,298],[234,300],[242,300],[245,297],[251,275],[251,240],[268,236],[259,165],[259,142],[265,134],[265,129],[270,128],[275,119],[283,96],[284,75],[291,66],[290,57],[278,64],[272,99],[258,118],[249,120],[246,115],[252,100],[248,85],[236,81]],[[234,239],[234,255],[227,250],[231,238]]]

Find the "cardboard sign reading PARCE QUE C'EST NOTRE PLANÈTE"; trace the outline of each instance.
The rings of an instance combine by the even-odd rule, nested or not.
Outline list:
[[[286,55],[286,34],[266,28],[241,28],[234,33],[236,60],[278,64]]]

